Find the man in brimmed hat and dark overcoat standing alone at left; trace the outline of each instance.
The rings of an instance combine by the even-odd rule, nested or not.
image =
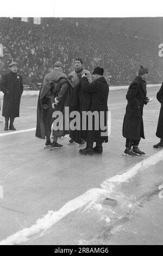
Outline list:
[[[17,74],[18,64],[16,62],[11,62],[9,69],[10,72],[2,76],[0,84],[0,88],[4,93],[2,115],[5,117],[4,130],[8,131],[8,129],[10,129],[15,131],[14,119],[19,117],[23,82],[22,76]]]

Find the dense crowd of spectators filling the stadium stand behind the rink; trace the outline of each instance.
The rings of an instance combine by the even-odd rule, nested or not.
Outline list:
[[[146,41],[120,33],[96,33],[93,26],[67,23],[64,19],[58,18],[47,26],[0,18],[0,44],[0,75],[8,71],[9,62],[14,60],[23,83],[33,84],[33,89],[42,83],[57,60],[65,64],[65,73],[70,74],[76,57],[82,58],[84,68],[91,72],[95,66],[103,66],[110,86],[129,85],[140,65],[148,66],[149,82],[162,81],[158,48],[153,50]]]

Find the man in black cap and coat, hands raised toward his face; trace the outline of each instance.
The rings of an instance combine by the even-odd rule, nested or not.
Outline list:
[[[89,83],[85,74],[82,75],[80,80],[82,89],[85,93],[90,95],[89,99],[89,107],[85,109],[85,111],[90,111],[93,113],[94,111],[98,114],[97,119],[92,118],[92,129],[89,129],[89,119],[86,121],[86,133],[85,133],[85,141],[86,141],[86,148],[80,149],[79,152],[81,154],[102,154],[103,142],[108,142],[108,135],[106,135],[107,131],[106,128],[102,130],[102,125],[104,127],[107,126],[107,112],[108,112],[108,95],[109,95],[109,86],[106,82],[104,76],[104,69],[103,68],[95,68],[93,70],[93,82]],[[103,117],[103,124],[100,123],[101,112],[104,113]],[[82,113],[83,114],[83,113]],[[97,124],[98,123],[98,124]],[[98,126],[98,127],[96,127]],[[102,135],[104,132],[104,136]],[[93,148],[93,142],[96,142],[96,147]]]

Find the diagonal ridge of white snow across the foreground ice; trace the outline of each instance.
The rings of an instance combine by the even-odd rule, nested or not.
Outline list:
[[[30,228],[24,228],[17,231],[14,235],[8,236],[7,239],[0,242],[0,245],[15,245],[27,242],[30,239],[30,236],[35,235],[42,230],[46,231],[71,212],[76,211],[83,206],[87,206],[88,204],[92,205],[92,203],[96,203],[97,200],[108,196],[109,192],[112,192],[116,185],[122,182],[128,182],[138,172],[155,165],[161,160],[163,160],[163,150],[160,150],[158,153],[140,161],[134,167],[128,168],[126,172],[117,174],[112,178],[103,181],[101,188],[91,188],[81,196],[70,200],[62,206],[60,210],[48,211],[45,216],[37,220]]]

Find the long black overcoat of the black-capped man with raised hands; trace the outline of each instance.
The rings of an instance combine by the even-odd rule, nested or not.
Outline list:
[[[89,83],[86,77],[81,78],[81,93],[83,95],[82,100],[82,112],[90,111],[91,113],[96,111],[98,113],[98,120],[92,119],[92,130],[86,125],[86,130],[82,131],[83,138],[88,142],[108,142],[108,135],[102,136],[101,132],[106,132],[106,130],[101,130],[100,127],[100,112],[104,113],[103,126],[107,124],[107,111],[108,111],[108,94],[109,86],[106,83],[104,77],[99,77],[96,81]],[[80,95],[80,94],[79,94]],[[84,103],[85,102],[85,103]],[[87,120],[90,121],[90,120]],[[99,127],[95,129],[95,122],[98,121]],[[70,137],[72,132],[70,133]]]

